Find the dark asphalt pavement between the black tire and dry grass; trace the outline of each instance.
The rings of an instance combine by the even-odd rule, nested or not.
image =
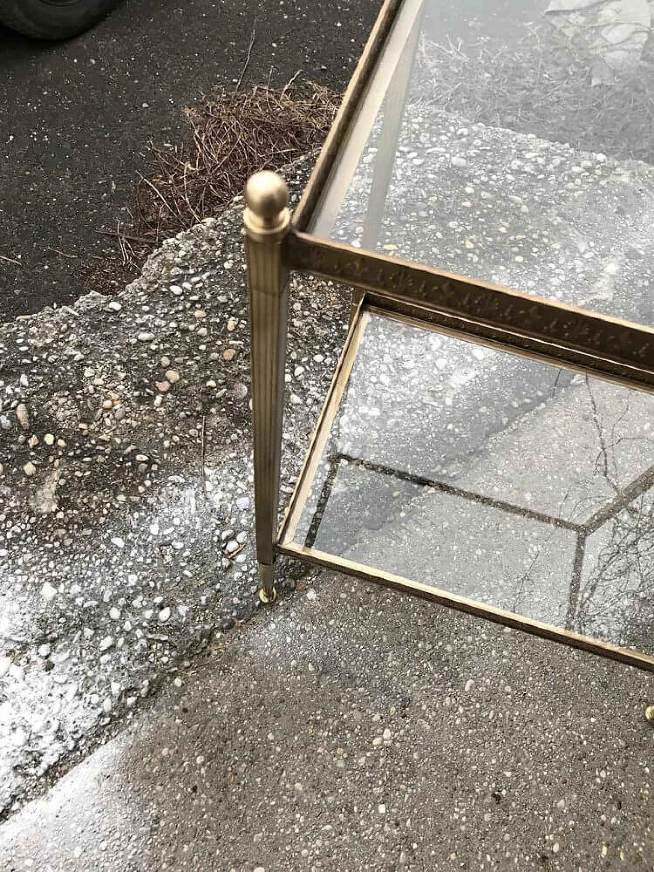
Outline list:
[[[43,44],[0,28],[0,319],[70,303],[104,258],[148,140],[178,140],[182,110],[242,72],[351,77],[379,0],[125,0],[92,31]]]

